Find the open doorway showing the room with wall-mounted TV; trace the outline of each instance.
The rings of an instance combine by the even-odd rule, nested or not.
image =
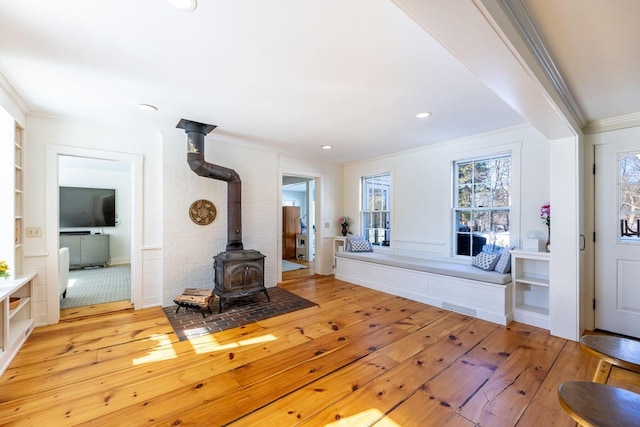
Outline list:
[[[127,162],[58,157],[60,247],[71,268],[61,309],[131,303],[130,175]],[[96,209],[96,200],[108,203]]]

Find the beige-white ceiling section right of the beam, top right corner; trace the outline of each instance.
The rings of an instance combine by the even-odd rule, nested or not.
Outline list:
[[[586,122],[640,112],[640,1],[521,1]]]

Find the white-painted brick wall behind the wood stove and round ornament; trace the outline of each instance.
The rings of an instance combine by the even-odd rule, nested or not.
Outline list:
[[[213,257],[227,244],[227,183],[196,175],[187,164],[184,131],[164,135],[163,151],[163,305],[186,287],[213,287]],[[235,169],[242,180],[242,241],[245,249],[266,255],[265,284],[277,279],[277,154],[205,140],[205,160]],[[217,216],[200,226],[189,218],[189,206],[199,199],[213,202]]]

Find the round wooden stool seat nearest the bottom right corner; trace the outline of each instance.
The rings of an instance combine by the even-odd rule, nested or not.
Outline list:
[[[562,408],[581,426],[637,426],[640,394],[592,382],[567,382],[558,388]]]

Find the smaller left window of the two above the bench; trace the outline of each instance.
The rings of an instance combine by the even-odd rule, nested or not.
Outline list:
[[[362,235],[372,245],[391,242],[391,173],[363,176],[360,217]]]

